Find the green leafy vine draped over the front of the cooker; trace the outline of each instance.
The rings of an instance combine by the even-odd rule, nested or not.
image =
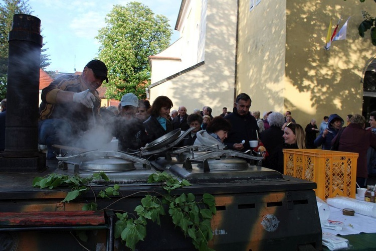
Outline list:
[[[87,178],[83,178],[79,175],[53,173],[45,177],[34,178],[33,186],[49,189],[54,189],[58,186],[71,187],[71,191],[67,193],[67,196],[62,201],[70,202],[90,190],[94,193],[90,183],[93,180],[100,179],[109,181],[107,175],[103,172],[94,173]],[[213,215],[216,213],[213,195],[205,193],[203,199],[197,202],[196,196],[192,193],[182,193],[180,195],[171,194],[172,190],[190,186],[191,184],[187,180],[179,181],[174,176],[165,172],[151,174],[147,182],[161,183],[166,194],[161,194],[156,191],[147,191],[149,193],[155,193],[156,195],[146,194],[145,197],[141,199],[141,204],[134,209],[137,217],[135,214],[128,214],[128,212],[117,212],[116,216],[118,220],[115,223],[115,238],[121,238],[125,241],[127,247],[134,250],[138,241],[143,240],[146,236],[147,221],[151,220],[160,225],[160,216],[165,215],[163,205],[167,205],[168,214],[172,218],[172,222],[181,229],[185,236],[192,238],[194,246],[199,250],[212,250],[208,247],[208,241],[213,238],[210,222]],[[107,187],[101,190],[97,196],[101,198],[119,196],[119,188],[120,186],[115,184],[113,187]],[[157,195],[159,197],[157,197]],[[109,206],[100,210],[107,209]],[[98,210],[95,196],[94,202],[85,204],[82,209]]]

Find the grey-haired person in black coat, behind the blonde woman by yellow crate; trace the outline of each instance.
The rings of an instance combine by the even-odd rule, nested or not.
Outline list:
[[[268,116],[268,121],[270,128],[260,133],[260,140],[269,153],[269,156],[263,160],[262,166],[283,173],[282,147],[284,139],[281,128],[285,118],[280,112],[272,112]]]

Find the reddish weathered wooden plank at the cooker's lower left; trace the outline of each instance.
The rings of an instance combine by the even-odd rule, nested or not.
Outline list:
[[[101,224],[103,211],[0,212],[0,226]]]

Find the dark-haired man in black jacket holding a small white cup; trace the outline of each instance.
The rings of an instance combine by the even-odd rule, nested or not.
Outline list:
[[[225,116],[231,123],[231,130],[224,142],[228,149],[245,152],[251,149],[248,142],[258,139],[259,127],[256,118],[249,112],[251,102],[248,94],[240,93],[236,97],[233,112]],[[243,140],[245,144],[242,144]]]

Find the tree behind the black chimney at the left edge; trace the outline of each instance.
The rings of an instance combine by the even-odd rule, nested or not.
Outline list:
[[[0,4],[0,99],[7,95],[7,72],[8,72],[8,35],[12,30],[13,16],[15,14],[32,15],[28,0],[3,0]],[[41,50],[41,68],[50,65],[46,49]]]

